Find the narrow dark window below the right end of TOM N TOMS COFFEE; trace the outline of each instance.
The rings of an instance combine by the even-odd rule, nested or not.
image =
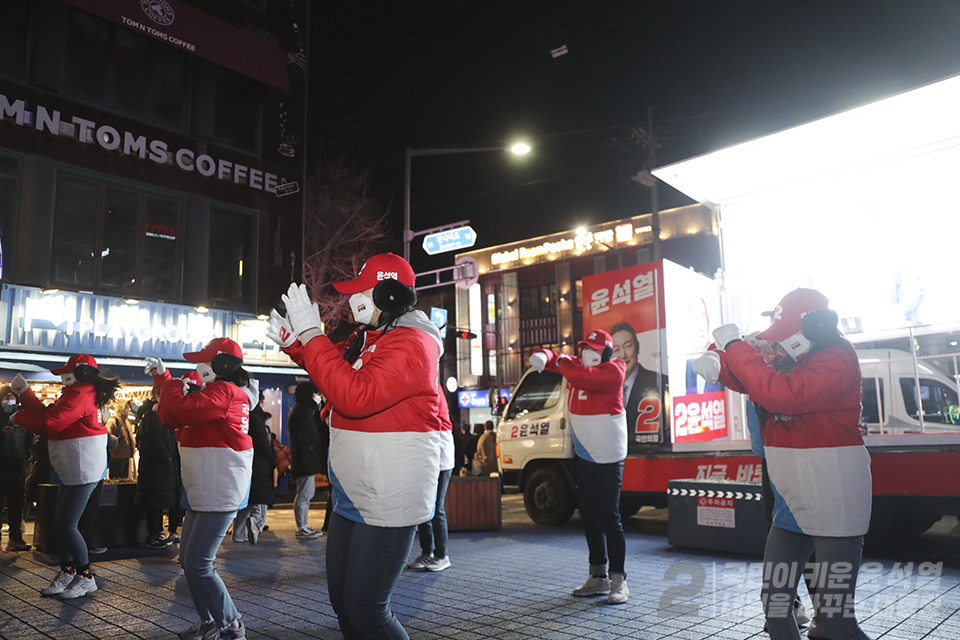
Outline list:
[[[217,306],[253,306],[253,233],[248,213],[214,207],[210,210],[207,297]]]

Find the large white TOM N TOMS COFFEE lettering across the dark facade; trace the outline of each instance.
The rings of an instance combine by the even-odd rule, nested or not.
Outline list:
[[[186,147],[173,149],[164,140],[148,140],[146,136],[121,131],[109,124],[97,123],[79,116],[67,120],[56,109],[48,110],[43,105],[37,105],[34,111],[30,111],[23,100],[11,102],[7,96],[0,93],[0,119],[7,118],[21,127],[32,126],[37,132],[45,131],[54,136],[75,138],[82,144],[96,144],[105,151],[137,156],[141,160],[150,160],[157,164],[176,165],[181,171],[196,172],[205,178],[226,180],[277,196],[299,190],[285,186],[296,183],[287,183],[268,171],[214,158],[206,153],[196,153]]]

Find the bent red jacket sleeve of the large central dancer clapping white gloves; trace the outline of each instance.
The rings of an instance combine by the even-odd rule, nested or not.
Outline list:
[[[303,346],[300,366],[338,414],[354,419],[375,415],[421,390],[423,373],[439,357],[438,349],[427,353],[422,342],[397,335],[399,331],[377,340],[375,353],[362,354],[359,368],[343,359],[330,338],[317,336]]]

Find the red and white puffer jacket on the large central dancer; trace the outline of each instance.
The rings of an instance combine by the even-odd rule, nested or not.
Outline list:
[[[388,331],[369,330],[359,358],[324,335],[284,349],[330,412],[329,478],[333,510],[377,527],[406,527],[433,517],[441,459],[452,451],[437,384],[440,332],[422,311]],[[452,455],[449,455],[452,468]]]

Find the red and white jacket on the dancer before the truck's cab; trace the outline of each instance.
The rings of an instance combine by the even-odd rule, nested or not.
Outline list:
[[[542,349],[547,371],[567,381],[567,409],[573,449],[589,462],[608,464],[627,457],[627,413],[623,409],[622,360],[588,367],[577,356]]]

